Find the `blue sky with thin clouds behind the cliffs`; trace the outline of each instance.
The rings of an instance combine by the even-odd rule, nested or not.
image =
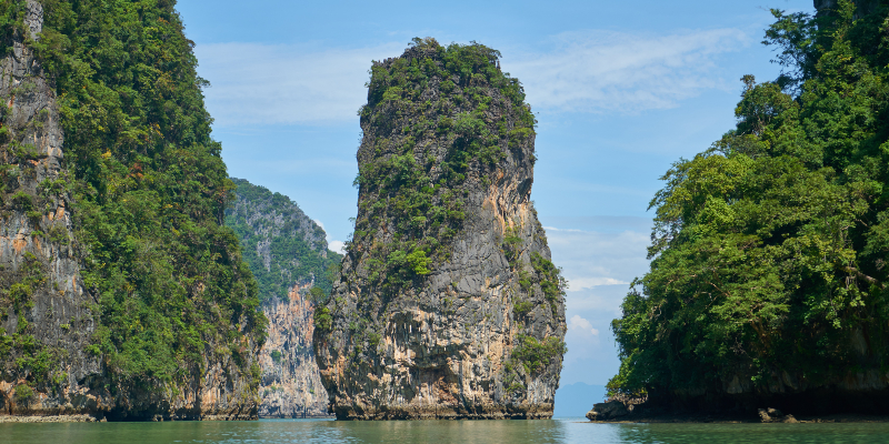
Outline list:
[[[777,77],[769,8],[811,0],[181,0],[231,175],[293,199],[333,246],[351,231],[371,60],[413,37],[500,50],[539,121],[532,199],[570,282],[562,384],[605,384],[610,321],[648,265],[658,178],[735,124],[743,74]]]

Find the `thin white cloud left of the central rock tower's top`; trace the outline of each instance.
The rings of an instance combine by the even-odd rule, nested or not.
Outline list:
[[[217,124],[324,124],[356,119],[371,60],[403,43],[361,49],[214,43],[194,48]]]

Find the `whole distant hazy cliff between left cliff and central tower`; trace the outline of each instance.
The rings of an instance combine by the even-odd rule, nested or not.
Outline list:
[[[341,256],[328,251],[324,231],[290,199],[244,180],[233,182],[238,199],[226,212],[226,223],[243,245],[269,319],[259,354],[259,416],[326,416],[327,392],[312,350],[310,293],[312,287],[329,292],[328,268]]]

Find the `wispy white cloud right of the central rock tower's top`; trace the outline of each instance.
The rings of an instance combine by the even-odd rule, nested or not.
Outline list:
[[[717,58],[748,44],[737,29],[670,36],[573,31],[556,50],[506,58],[505,70],[525,84],[536,108],[581,112],[637,112],[675,108],[701,91],[725,88]]]

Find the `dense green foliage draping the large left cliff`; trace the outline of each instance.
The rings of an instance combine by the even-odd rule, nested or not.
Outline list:
[[[258,375],[247,340],[263,341],[266,320],[222,225],[233,184],[176,2],[41,3],[43,32],[26,44],[54,84],[66,138],[64,180],[50,191],[70,196],[83,285],[98,300],[90,352],[109,387],[193,382],[220,355]],[[23,4],[0,7],[7,40]]]

